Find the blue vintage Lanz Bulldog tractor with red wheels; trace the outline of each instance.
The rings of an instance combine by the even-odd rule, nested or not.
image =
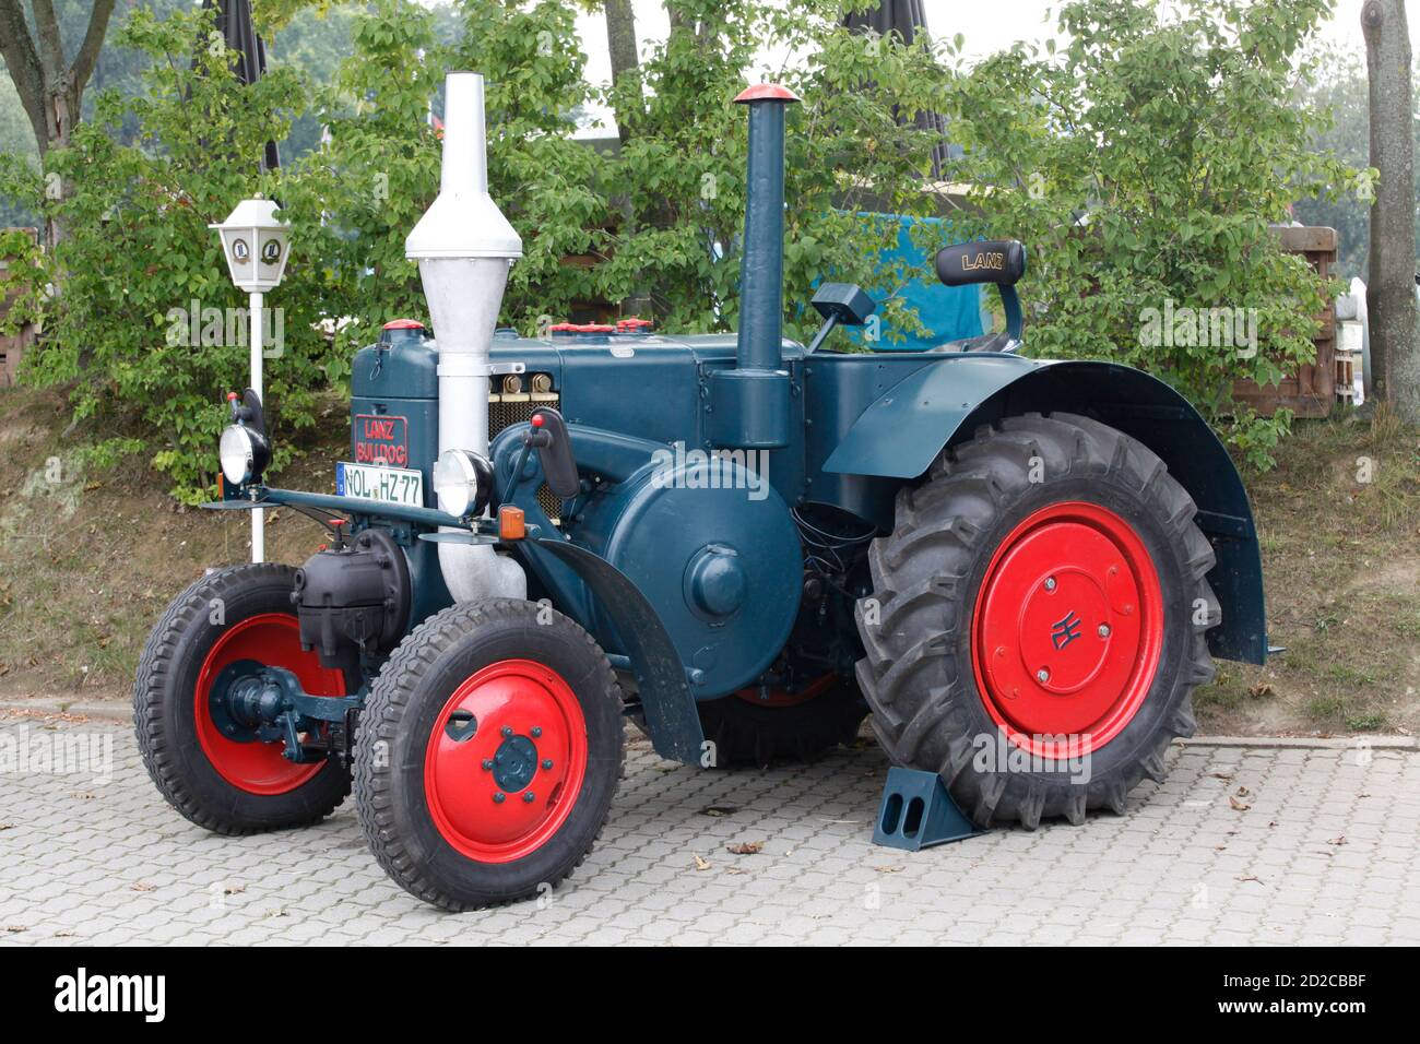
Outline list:
[[[222,834],[297,827],[354,783],[379,862],[450,909],[565,878],[606,820],[623,722],[673,761],[812,757],[865,714],[977,824],[1120,812],[1194,720],[1213,656],[1267,652],[1251,510],[1167,385],[1017,354],[1015,241],[943,249],[1005,330],[835,351],[870,298],[781,330],[785,109],[748,107],[737,335],[496,335],[517,233],[487,195],[483,81],[447,84],[442,192],[409,237],[437,341],[354,362],[337,494],[267,486],[233,396],[224,499],[331,531],[301,568],[217,570],[135,689],[159,790]],[[1083,770],[1082,770],[1083,766]]]

